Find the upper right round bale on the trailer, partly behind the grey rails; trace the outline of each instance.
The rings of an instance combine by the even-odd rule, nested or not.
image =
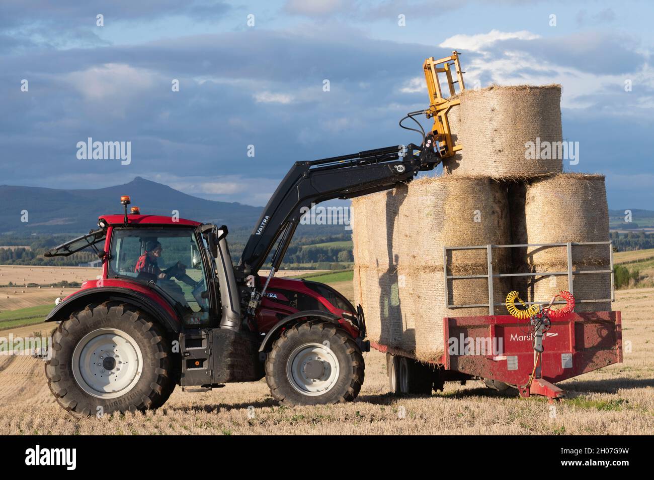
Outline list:
[[[608,241],[604,176],[566,173],[534,180],[526,189],[525,221],[530,244]],[[565,270],[567,250],[564,246],[530,247],[527,261]],[[572,264],[577,268],[606,266],[609,261],[607,244],[572,247]]]

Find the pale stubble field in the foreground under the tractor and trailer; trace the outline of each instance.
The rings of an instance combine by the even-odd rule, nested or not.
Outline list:
[[[446,383],[431,396],[388,392],[385,357],[364,354],[366,381],[355,402],[280,408],[265,381],[211,392],[178,387],[162,409],[82,421],[54,402],[43,361],[0,355],[0,428],[7,434],[651,434],[654,429],[654,289],[616,293],[623,312],[622,364],[562,382],[569,397],[550,418],[543,399],[491,391],[481,381]],[[14,334],[48,332],[50,325]],[[3,332],[7,336],[8,332]],[[630,342],[630,344],[627,344]]]

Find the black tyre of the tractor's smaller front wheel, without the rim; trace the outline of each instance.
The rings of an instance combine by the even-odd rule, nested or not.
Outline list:
[[[294,352],[301,353],[303,345],[326,345],[326,342],[332,360],[338,362],[339,374],[328,391],[316,395],[303,393],[299,389],[301,383],[288,374],[296,358]],[[265,368],[270,392],[284,406],[351,402],[364,383],[365,364],[360,348],[345,330],[325,321],[306,321],[284,330],[267,354]]]

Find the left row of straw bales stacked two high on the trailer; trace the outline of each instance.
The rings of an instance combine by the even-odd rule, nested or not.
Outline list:
[[[447,308],[443,246],[508,243],[505,189],[483,176],[422,178],[354,199],[352,210],[354,298],[364,306],[369,338],[438,360],[443,317],[489,312]],[[496,249],[494,271],[506,272],[507,264],[508,251]],[[486,251],[450,251],[447,266],[448,276],[484,275]],[[506,279],[494,281],[494,302],[504,300],[508,287]],[[447,280],[450,305],[486,303],[488,292],[485,278]]]

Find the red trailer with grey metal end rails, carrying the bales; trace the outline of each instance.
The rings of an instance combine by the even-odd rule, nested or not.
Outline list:
[[[606,244],[610,249],[610,269],[572,270],[572,249],[579,245]],[[497,248],[566,247],[568,268],[565,272],[524,272],[494,274],[492,251]],[[567,244],[487,245],[473,247],[445,247],[453,249],[487,249],[489,300],[485,304],[451,305],[449,308],[488,306],[489,315],[475,317],[446,317],[443,319],[443,345],[445,353],[438,362],[424,363],[415,359],[412,352],[375,342],[371,347],[387,353],[388,376],[393,391],[428,394],[432,389],[443,388],[445,381],[484,379],[494,389],[513,387],[521,396],[542,395],[550,401],[564,396],[556,382],[576,377],[591,370],[622,361],[622,325],[620,312],[572,312],[552,318],[547,325],[534,326],[530,319],[517,319],[512,315],[494,315],[492,281],[503,276],[567,275],[570,293],[574,283],[583,281],[584,274],[606,274],[611,278],[611,298],[587,298],[583,302],[610,302],[613,293],[613,253],[611,242],[568,242]],[[479,276],[450,276],[444,269],[445,285],[453,278],[479,278]],[[577,278],[574,278],[577,276]],[[574,280],[574,281],[573,281]],[[549,304],[549,302],[525,302]],[[555,304],[562,304],[557,301]],[[578,305],[578,303],[577,303]],[[533,317],[532,317],[533,318]],[[538,322],[536,322],[538,324]],[[540,332],[538,331],[540,330]],[[461,345],[464,345],[461,348]],[[500,348],[498,349],[498,345]],[[498,351],[499,350],[499,351]]]

